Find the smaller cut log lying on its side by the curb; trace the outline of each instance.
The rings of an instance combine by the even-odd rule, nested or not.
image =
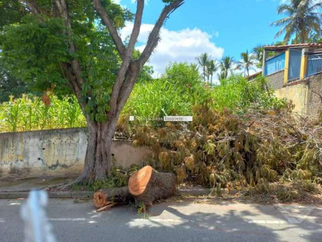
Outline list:
[[[113,205],[128,204],[131,199],[134,201],[128,187],[120,187],[97,191],[93,196],[93,203],[96,208],[103,208],[111,203]]]

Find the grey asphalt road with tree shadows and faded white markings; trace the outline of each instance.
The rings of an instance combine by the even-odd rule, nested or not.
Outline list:
[[[22,200],[0,200],[0,241],[24,241]],[[51,199],[57,241],[322,241],[322,207],[236,202],[155,204],[148,218],[129,206],[97,213],[90,202]]]

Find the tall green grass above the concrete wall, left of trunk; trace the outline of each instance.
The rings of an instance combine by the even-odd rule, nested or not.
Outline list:
[[[58,99],[52,95],[46,106],[39,97],[10,97],[0,104],[0,132],[86,127],[75,97]]]

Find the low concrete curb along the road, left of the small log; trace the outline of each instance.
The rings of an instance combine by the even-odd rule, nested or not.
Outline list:
[[[18,199],[27,198],[28,192],[1,192],[0,199]],[[93,198],[94,192],[48,192],[48,198],[78,198],[89,199]]]

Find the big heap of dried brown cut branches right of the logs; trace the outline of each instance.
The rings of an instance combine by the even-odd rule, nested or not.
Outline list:
[[[263,193],[272,183],[303,181],[317,189],[307,192],[318,193],[322,183],[321,123],[290,107],[236,114],[196,106],[192,123],[138,128],[133,144],[152,147],[148,163],[175,172],[179,184]]]

